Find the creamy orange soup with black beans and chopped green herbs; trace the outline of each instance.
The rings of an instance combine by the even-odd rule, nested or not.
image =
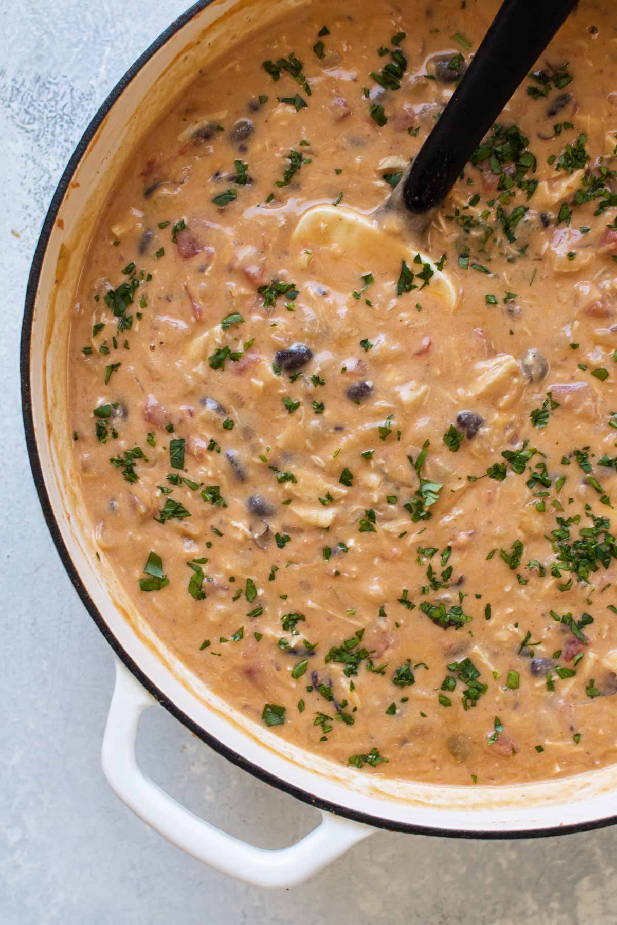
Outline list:
[[[294,234],[384,203],[497,7],[304,4],[221,48],[131,157],[76,296],[102,561],[257,734],[350,772],[617,756],[611,5],[580,4],[425,240]]]

